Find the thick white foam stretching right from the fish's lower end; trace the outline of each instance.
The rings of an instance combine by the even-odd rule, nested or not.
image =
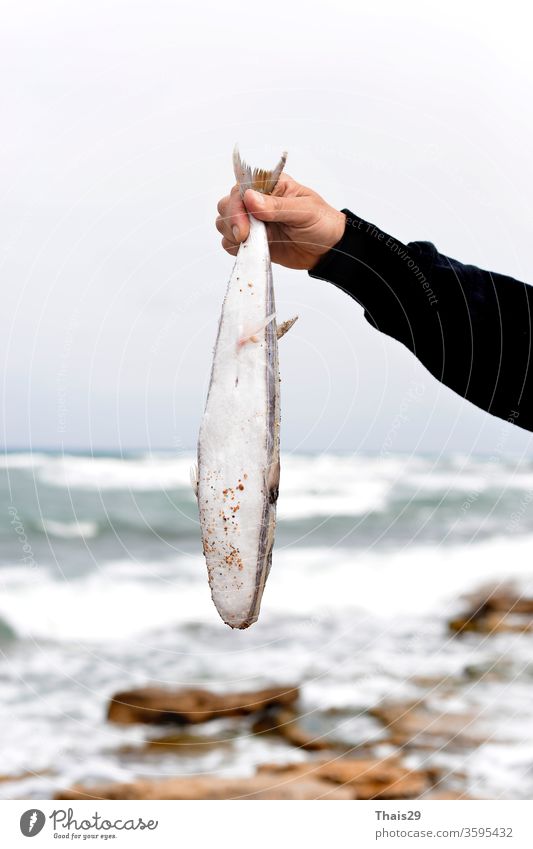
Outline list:
[[[533,576],[532,548],[533,539],[521,537],[395,552],[296,549],[283,552],[285,562],[278,554],[267,593],[287,613],[357,607],[385,617],[442,614],[480,583],[516,578],[523,584]]]

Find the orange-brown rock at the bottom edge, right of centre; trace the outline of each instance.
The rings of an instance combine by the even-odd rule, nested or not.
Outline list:
[[[336,758],[305,764],[264,764],[259,775],[318,778],[350,788],[354,799],[417,799],[431,786],[429,775],[401,766],[395,758]]]

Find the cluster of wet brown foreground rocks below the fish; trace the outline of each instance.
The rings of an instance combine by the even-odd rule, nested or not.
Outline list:
[[[402,747],[426,733],[428,745],[443,735],[457,735],[463,717],[449,723],[428,715],[416,705],[383,705],[374,712],[390,732],[389,741],[398,752],[382,757],[356,756],[354,747],[342,745],[305,728],[298,713],[299,689],[279,687],[255,692],[218,694],[208,690],[167,691],[142,688],[118,693],[110,702],[108,717],[121,723],[145,722],[171,725],[174,733],[149,738],[148,749],[181,751],[182,747],[221,745],[225,740],[187,733],[196,726],[220,718],[253,717],[248,733],[275,734],[290,746],[321,756],[302,763],[262,764],[256,774],[243,778],[192,776],[164,781],[74,786],[57,799],[417,799],[448,798],[439,789],[439,776],[431,769],[405,765]],[[179,729],[179,730],[176,730]],[[355,747],[357,749],[357,747]],[[324,752],[328,757],[324,757]],[[455,792],[454,798],[465,798]]]

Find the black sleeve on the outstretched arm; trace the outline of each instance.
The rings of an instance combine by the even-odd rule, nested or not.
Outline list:
[[[533,288],[343,212],[344,235],[311,277],[355,298],[370,324],[463,398],[533,430]]]

